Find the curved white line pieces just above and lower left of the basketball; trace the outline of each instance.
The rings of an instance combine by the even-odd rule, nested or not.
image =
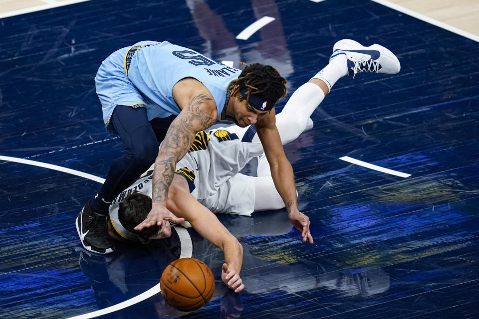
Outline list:
[[[183,227],[175,227],[178,236],[180,237],[180,244],[181,244],[181,255],[180,258],[189,258],[191,257],[193,253],[193,243],[191,242],[191,237],[190,234],[188,233],[188,230],[186,230]],[[97,311],[94,311],[92,313],[80,315],[80,316],[75,316],[75,317],[70,317],[67,319],[90,319],[90,318],[95,318],[98,316],[103,316],[106,314],[113,313],[115,311],[130,307],[132,305],[138,304],[139,302],[142,302],[150,297],[155,296],[156,294],[161,292],[161,287],[160,283],[157,285],[153,286],[152,288],[148,289],[146,292],[135,296],[131,299],[125,300],[122,303],[110,306],[108,308],[103,308]]]

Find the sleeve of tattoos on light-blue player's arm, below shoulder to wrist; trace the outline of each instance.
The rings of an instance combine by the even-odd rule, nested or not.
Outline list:
[[[164,203],[167,200],[176,162],[185,156],[196,134],[215,123],[216,119],[203,111],[203,106],[208,101],[212,99],[205,94],[196,95],[191,99],[188,107],[185,107],[171,123],[155,160],[152,184],[153,203]]]

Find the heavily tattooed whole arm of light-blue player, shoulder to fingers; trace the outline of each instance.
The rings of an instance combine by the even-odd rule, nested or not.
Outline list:
[[[171,123],[155,160],[152,182],[152,208],[148,217],[135,227],[141,230],[150,225],[167,226],[176,217],[167,209],[168,189],[176,170],[176,163],[185,156],[198,132],[211,127],[217,117],[216,103],[210,91],[198,80],[186,78],[173,87],[173,98],[182,109]]]

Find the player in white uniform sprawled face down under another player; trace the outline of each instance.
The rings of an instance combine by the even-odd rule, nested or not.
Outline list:
[[[358,53],[348,50],[350,47],[361,47],[363,50]],[[382,46],[362,47],[352,40],[337,42],[330,63],[299,87],[276,116],[281,143],[295,140],[312,127],[310,115],[342,76],[358,72],[397,73],[399,69],[397,58]],[[251,107],[251,111],[254,110]],[[230,126],[200,132],[188,153],[177,163],[168,195],[168,209],[179,218],[185,218],[198,233],[224,251],[226,263],[222,279],[236,292],[244,288],[239,276],[242,248],[213,212],[250,215],[253,211],[284,207],[274,186],[268,161],[262,155],[263,148],[254,126]],[[257,176],[239,173],[249,160],[258,156]],[[115,198],[110,206],[111,236],[146,243],[149,239],[171,235],[168,223],[160,226],[155,223],[141,229],[135,227],[151,209],[148,197],[152,192],[151,178],[148,174],[143,176]],[[141,193],[130,194],[135,191]],[[303,224],[293,225],[301,232],[302,240],[312,244],[309,223],[306,219]]]

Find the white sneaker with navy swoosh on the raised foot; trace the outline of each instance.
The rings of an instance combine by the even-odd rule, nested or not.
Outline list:
[[[361,72],[396,74],[401,70],[396,55],[379,44],[363,46],[354,40],[339,40],[329,61],[341,55],[348,59],[348,75],[353,77]]]

